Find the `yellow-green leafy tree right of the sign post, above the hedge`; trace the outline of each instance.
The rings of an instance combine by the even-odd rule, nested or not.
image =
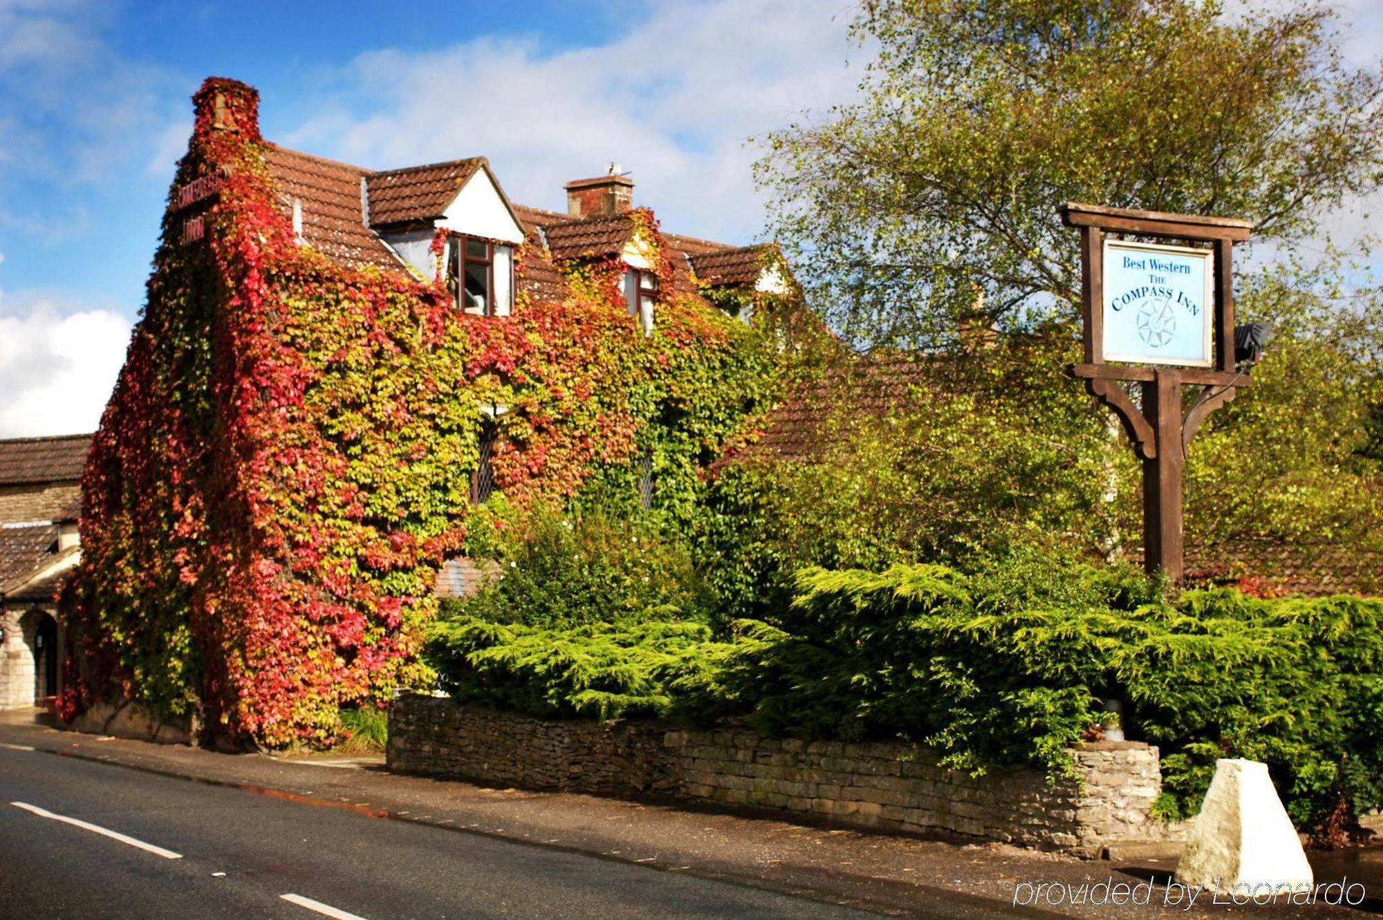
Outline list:
[[[1241,285],[1239,309],[1274,334],[1253,385],[1191,446],[1188,546],[1383,550],[1383,466],[1369,459],[1383,403],[1383,296],[1346,287],[1333,260],[1283,262]],[[1131,497],[1123,507],[1135,511]]]

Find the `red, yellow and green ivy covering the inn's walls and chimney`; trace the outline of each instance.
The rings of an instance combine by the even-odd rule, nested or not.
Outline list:
[[[123,698],[238,743],[328,740],[343,703],[426,680],[437,568],[463,551],[495,424],[496,501],[635,489],[693,500],[700,467],[770,398],[780,349],[676,279],[651,336],[611,261],[561,265],[561,303],[456,311],[440,280],[346,268],[295,242],[257,94],[207,80],[83,482],[62,713]],[[177,189],[220,177],[202,204]],[[184,221],[205,210],[205,239]],[[521,272],[526,250],[517,253]],[[496,406],[508,408],[495,414]]]

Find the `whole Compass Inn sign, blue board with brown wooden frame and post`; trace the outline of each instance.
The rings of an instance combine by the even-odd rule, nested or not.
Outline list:
[[[1235,369],[1231,253],[1253,224],[1075,202],[1058,211],[1066,227],[1080,229],[1084,361],[1069,370],[1115,410],[1142,459],[1144,568],[1180,582],[1187,446],[1206,416],[1250,383]],[[1138,384],[1138,402],[1122,381]],[[1199,387],[1189,403],[1182,385]]]

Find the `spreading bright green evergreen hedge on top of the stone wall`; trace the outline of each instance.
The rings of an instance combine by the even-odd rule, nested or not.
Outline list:
[[[1162,746],[1163,816],[1199,808],[1216,758],[1247,757],[1321,826],[1383,804],[1380,626],[1379,600],[1173,597],[1127,566],[1018,550],[972,575],[804,569],[787,611],[725,641],[665,605],[578,624],[461,613],[429,651],[458,698],[535,716],[743,716],[770,735],[927,743],[974,774],[1068,772],[1119,696],[1133,736]]]

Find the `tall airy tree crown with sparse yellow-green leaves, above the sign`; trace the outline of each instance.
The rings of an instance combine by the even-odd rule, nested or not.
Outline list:
[[[869,0],[860,101],[768,135],[774,232],[859,343],[1072,322],[1065,200],[1245,217],[1290,245],[1383,174],[1383,83],[1332,12],[1214,0]]]

